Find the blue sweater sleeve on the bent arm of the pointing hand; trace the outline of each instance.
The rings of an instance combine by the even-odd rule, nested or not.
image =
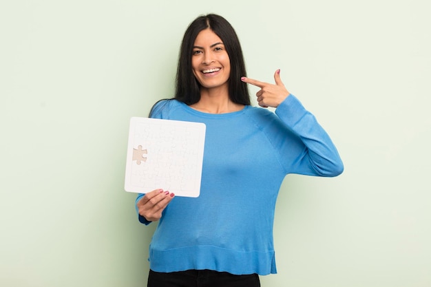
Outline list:
[[[277,137],[286,173],[331,177],[343,172],[343,162],[332,140],[295,96],[289,95],[275,114],[291,131],[291,138],[288,134]]]

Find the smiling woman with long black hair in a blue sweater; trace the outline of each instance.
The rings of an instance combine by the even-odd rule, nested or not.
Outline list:
[[[207,126],[202,183],[198,198],[162,189],[138,195],[140,222],[159,221],[148,286],[260,286],[258,275],[277,272],[272,228],[286,174],[343,171],[333,142],[284,87],[280,70],[274,78],[275,85],[246,78],[238,36],[224,18],[209,14],[187,28],[175,98],[156,103],[151,117]],[[261,107],[251,107],[247,83],[260,87]]]

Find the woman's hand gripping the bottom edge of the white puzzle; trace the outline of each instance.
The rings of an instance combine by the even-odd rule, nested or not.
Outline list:
[[[169,193],[169,191],[163,191],[162,189],[145,193],[144,197],[136,203],[138,212],[148,221],[160,220],[162,212],[174,196],[174,193]]]

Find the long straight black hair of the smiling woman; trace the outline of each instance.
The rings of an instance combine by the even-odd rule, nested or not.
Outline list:
[[[184,34],[178,57],[175,99],[187,105],[198,103],[200,100],[200,83],[193,74],[191,56],[199,32],[208,28],[220,37],[229,55],[231,62],[229,98],[233,103],[251,105],[249,89],[246,83],[241,81],[241,77],[246,76],[246,70],[240,40],[232,25],[217,14],[207,14],[196,18],[190,23]]]

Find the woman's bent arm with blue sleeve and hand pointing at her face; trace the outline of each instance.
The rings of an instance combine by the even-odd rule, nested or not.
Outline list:
[[[338,176],[344,166],[328,134],[284,87],[280,70],[275,72],[274,79],[275,85],[245,77],[241,81],[260,87],[256,96],[261,107],[276,108],[280,120],[268,125],[266,134],[273,138],[286,173]]]

